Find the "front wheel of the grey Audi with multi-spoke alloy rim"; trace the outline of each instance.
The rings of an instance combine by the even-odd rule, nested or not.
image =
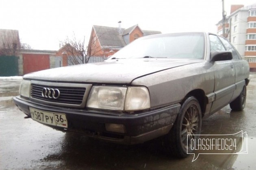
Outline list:
[[[191,153],[191,138],[197,139],[201,134],[202,112],[195,97],[187,98],[178,113],[176,121],[165,139],[167,151],[178,158],[189,156]],[[188,138],[188,135],[189,138]],[[188,141],[188,143],[187,143]],[[194,144],[194,143],[193,143]]]

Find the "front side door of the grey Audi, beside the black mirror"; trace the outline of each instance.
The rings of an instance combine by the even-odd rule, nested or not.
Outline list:
[[[226,51],[218,36],[210,34],[209,39],[211,52]],[[232,99],[235,90],[235,68],[232,60],[228,60],[213,62],[211,69],[215,75],[215,100],[211,107],[211,112],[214,113],[229,104]]]

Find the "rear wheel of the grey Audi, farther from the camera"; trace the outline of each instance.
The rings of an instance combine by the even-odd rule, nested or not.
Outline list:
[[[246,102],[246,85],[243,86],[241,94],[229,104],[230,108],[234,111],[242,111],[245,108]]]

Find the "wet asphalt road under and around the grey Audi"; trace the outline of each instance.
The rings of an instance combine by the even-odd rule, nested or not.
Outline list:
[[[0,170],[5,169],[256,169],[256,74],[247,86],[242,112],[226,106],[202,123],[202,134],[248,135],[248,154],[193,155],[176,159],[165,153],[161,140],[124,146],[65,134],[32,119],[24,119],[13,103],[21,79],[0,79]],[[240,144],[239,144],[240,141]],[[241,147],[241,140],[237,140]],[[244,146],[244,145],[243,145]],[[201,153],[197,151],[196,153]]]

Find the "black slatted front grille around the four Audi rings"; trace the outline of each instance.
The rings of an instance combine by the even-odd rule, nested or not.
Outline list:
[[[43,88],[59,89],[60,96],[57,99],[46,98],[42,96]],[[61,104],[76,104],[81,105],[86,88],[84,87],[62,87],[62,86],[44,86],[44,85],[31,85],[31,97],[47,102],[61,103]]]

